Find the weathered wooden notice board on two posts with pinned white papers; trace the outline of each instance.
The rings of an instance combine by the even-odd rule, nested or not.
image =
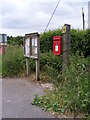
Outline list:
[[[36,59],[36,80],[39,80],[40,35],[38,32],[25,34],[24,56],[26,57],[27,76],[29,76],[29,59]]]

